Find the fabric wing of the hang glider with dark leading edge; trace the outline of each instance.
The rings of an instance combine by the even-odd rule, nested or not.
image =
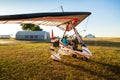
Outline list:
[[[90,12],[51,12],[31,13],[0,16],[0,24],[32,23],[46,26],[57,26],[63,30],[70,31],[81,23]]]

